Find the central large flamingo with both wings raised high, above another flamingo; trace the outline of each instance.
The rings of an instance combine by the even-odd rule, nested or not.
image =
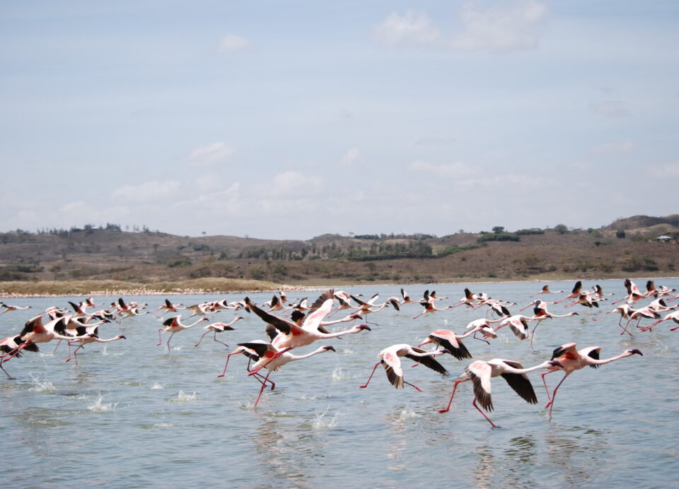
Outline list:
[[[320,326],[320,322],[323,320],[323,317],[325,317],[327,313],[332,310],[333,297],[334,293],[332,289],[320,295],[320,297],[315,300],[309,310],[309,313],[304,318],[302,326],[299,326],[296,324],[296,322],[274,316],[274,314],[270,314],[269,312],[262,310],[248,297],[245,297],[245,304],[248,305],[248,307],[250,307],[250,309],[267,324],[273,326],[279,331],[280,334],[278,334],[272,340],[273,346],[279,350],[279,353],[274,354],[273,358],[275,359],[277,358],[277,355],[280,355],[284,351],[287,351],[291,348],[296,348],[298,346],[306,346],[320,339],[338,338],[339,336],[344,336],[345,334],[360,333],[363,330],[371,331],[371,329],[366,324],[359,324],[358,326],[353,326],[350,329],[337,331],[335,333],[324,333],[323,331],[319,331],[318,327]],[[265,365],[266,364],[255,367],[250,372],[250,375],[254,375],[254,373],[259,372],[259,370]]]

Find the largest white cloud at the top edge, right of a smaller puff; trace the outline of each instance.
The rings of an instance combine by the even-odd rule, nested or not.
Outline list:
[[[510,52],[534,49],[547,18],[547,7],[534,0],[520,0],[482,8],[480,2],[466,3],[460,14],[464,31],[454,35],[451,49]]]

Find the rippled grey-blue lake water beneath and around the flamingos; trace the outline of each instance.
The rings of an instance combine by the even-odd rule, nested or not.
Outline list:
[[[551,283],[551,288],[568,293],[573,283]],[[613,300],[625,295],[622,281],[584,281],[584,287],[595,283],[615,293]],[[643,288],[645,281],[637,283]],[[679,281],[658,279],[656,285],[679,288]],[[541,286],[469,285],[476,293],[518,302],[510,308],[514,314]],[[422,297],[425,288],[406,289],[411,297]],[[429,288],[449,297],[437,304],[449,305],[463,297],[465,284]],[[345,290],[364,298],[400,295],[397,286]],[[538,297],[556,300],[567,293]],[[308,296],[310,302],[318,295],[289,293],[291,298]],[[221,297],[170,300],[187,305]],[[227,297],[240,300],[243,295]],[[271,294],[250,297],[261,303]],[[115,298],[96,300],[108,305]],[[48,306],[67,307],[69,299],[82,297],[6,301],[32,309],[1,316],[1,337],[18,333]],[[156,310],[164,297],[126,299],[149,302],[148,309]],[[666,322],[652,332],[634,331],[630,338],[620,336],[617,315],[591,320],[612,309],[610,302],[593,311],[576,306],[569,310],[579,316],[542,322],[534,350],[508,328],[490,345],[464,341],[475,358],[513,359],[526,367],[571,341],[578,348],[601,346],[602,358],[627,348],[644,353],[574,372],[559,389],[552,419],[543,408],[547,399],[540,372],[529,374],[537,405],[516,396],[501,377],[493,379],[495,411],[489,416],[501,428],[492,428],[472,407],[470,382],[460,384],[450,412],[437,412],[470,360],[438,357],[449,377],[422,366],[410,368],[406,360],[405,379],[422,392],[394,389],[381,367],[369,387],[359,389],[382,348],[417,345],[434,329],[461,334],[468,322],[484,316],[484,309],[458,307],[413,320],[422,307],[412,304],[400,312],[388,308],[371,314],[368,320],[378,323],[372,331],[323,342],[337,353],[274,372],[276,389],[265,391],[256,409],[260,384],[247,377],[243,355],[234,355],[226,376],[216,378],[236,343],[265,338],[265,324],[254,314],[244,314],[236,331],[218,336],[229,349],[211,341],[211,334],[194,348],[208,324],[201,323],[175,334],[171,355],[164,348],[167,335],[163,346],[156,346],[158,320],[149,315],[125,319],[120,326],[100,327],[100,336],[124,334],[127,341],[86,346],[78,367],[64,363],[65,345],[52,354],[54,342],[41,345],[40,354],[25,353],[4,364],[16,379],[0,372],[0,476],[13,487],[676,487],[679,331],[669,332],[676,324]],[[551,305],[550,311],[564,312],[561,304]],[[228,322],[235,316],[222,311],[214,320]],[[642,325],[649,323],[642,320]],[[561,378],[561,373],[547,376],[550,387]]]

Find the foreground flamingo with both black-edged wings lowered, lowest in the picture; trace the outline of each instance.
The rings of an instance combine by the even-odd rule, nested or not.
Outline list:
[[[524,401],[530,404],[536,404],[538,403],[538,398],[535,396],[535,391],[533,390],[533,386],[530,384],[530,380],[528,380],[526,373],[533,372],[533,370],[538,370],[540,368],[554,367],[555,365],[558,365],[558,363],[548,360],[547,362],[540,363],[540,365],[535,365],[535,367],[523,368],[521,363],[514,362],[513,360],[503,360],[501,358],[493,358],[487,362],[476,360],[465,368],[465,373],[460,376],[460,379],[455,380],[453,393],[451,394],[451,399],[448,401],[448,406],[441,409],[439,413],[447,413],[450,410],[458,384],[471,380],[472,384],[474,384],[474,401],[472,402],[472,406],[477,408],[477,411],[486,418],[493,428],[497,428],[497,425],[486,416],[486,413],[481,411],[479,406],[477,406],[478,401],[486,411],[493,411],[490,379],[501,375],[507,381],[509,387],[511,387],[516,394],[521,396]]]

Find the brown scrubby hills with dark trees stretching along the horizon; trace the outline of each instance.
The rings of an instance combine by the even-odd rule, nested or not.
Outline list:
[[[675,276],[679,215],[600,229],[533,228],[433,235],[325,234],[311,240],[188,237],[86,225],[0,233],[0,290],[30,283],[158,283],[221,278],[295,285]],[[249,283],[248,287],[252,287]]]

